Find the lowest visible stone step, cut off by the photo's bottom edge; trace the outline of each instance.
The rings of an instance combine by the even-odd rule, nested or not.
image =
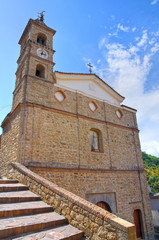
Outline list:
[[[26,234],[20,237],[14,237],[15,240],[84,240],[83,232],[71,225],[64,225],[36,233]]]

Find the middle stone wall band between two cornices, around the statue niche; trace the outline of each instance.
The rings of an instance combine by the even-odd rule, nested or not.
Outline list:
[[[89,134],[92,128],[102,134],[102,152],[91,152]],[[36,104],[28,104],[25,129],[25,163],[102,169],[143,168],[141,156],[137,162],[134,144],[137,140],[131,129],[77,118]]]

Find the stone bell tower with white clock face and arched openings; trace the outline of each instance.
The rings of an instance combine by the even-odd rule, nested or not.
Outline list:
[[[55,30],[44,23],[43,12],[36,20],[30,19],[19,40],[20,56],[17,60],[15,90],[12,110],[27,100],[27,87],[33,80],[54,82],[53,80],[53,36]]]

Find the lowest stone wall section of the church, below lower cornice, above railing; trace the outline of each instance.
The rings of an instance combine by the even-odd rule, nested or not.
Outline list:
[[[29,167],[29,169],[94,204],[98,201],[107,202],[113,214],[129,222],[134,222],[134,210],[140,209],[145,238],[153,239],[153,226],[149,222],[152,216],[148,202],[145,171],[47,167]],[[142,185],[140,185],[140,178],[143,181]],[[109,202],[109,197],[112,194],[114,198],[111,198]],[[98,196],[95,202],[93,201],[94,195]],[[105,199],[104,195],[106,196]]]

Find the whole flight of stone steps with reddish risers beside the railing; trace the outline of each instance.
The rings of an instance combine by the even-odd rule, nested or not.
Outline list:
[[[84,240],[83,232],[28,187],[16,180],[0,179],[0,239]]]

